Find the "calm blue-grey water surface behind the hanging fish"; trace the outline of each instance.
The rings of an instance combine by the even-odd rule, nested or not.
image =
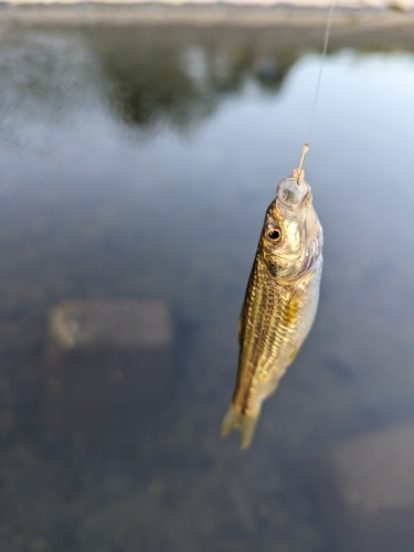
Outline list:
[[[252,448],[219,437],[318,33],[2,25],[1,551],[332,550],[304,464],[413,425],[413,47],[350,31],[332,35],[305,167],[326,235],[318,317]],[[68,299],[171,309],[168,392],[115,434],[98,412],[86,434],[45,420],[47,314]]]

